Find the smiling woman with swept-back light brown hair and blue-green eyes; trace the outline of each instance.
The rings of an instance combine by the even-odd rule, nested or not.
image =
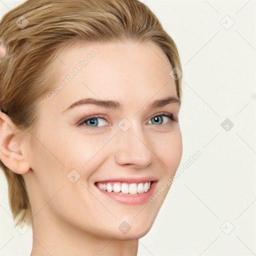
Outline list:
[[[31,256],[136,255],[182,155],[175,43],[137,0],[28,0],[0,39],[0,159]]]

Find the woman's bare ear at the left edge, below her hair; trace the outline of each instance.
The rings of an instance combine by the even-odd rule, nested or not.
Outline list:
[[[20,130],[3,112],[0,112],[0,159],[2,163],[17,174],[30,169],[24,150],[21,150]],[[23,149],[23,148],[22,148]]]

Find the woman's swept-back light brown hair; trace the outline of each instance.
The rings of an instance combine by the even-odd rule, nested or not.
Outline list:
[[[23,26],[18,20],[22,19]],[[23,23],[24,22],[24,23]],[[7,57],[0,61],[0,110],[32,134],[40,100],[52,90],[54,59],[65,47],[98,42],[153,42],[181,71],[177,47],[151,10],[138,0],[27,0],[0,21]],[[175,80],[181,101],[181,79]],[[15,226],[32,225],[24,179],[1,161]]]

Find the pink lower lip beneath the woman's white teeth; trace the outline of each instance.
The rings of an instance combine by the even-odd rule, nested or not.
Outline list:
[[[105,194],[106,196],[109,196],[110,198],[118,201],[118,202],[122,202],[125,204],[131,204],[131,205],[139,205],[139,204],[143,204],[145,202],[148,201],[148,198],[153,194],[154,189],[156,187],[156,181],[151,183],[150,188],[147,190],[147,192],[143,192],[140,194],[121,194],[121,193],[115,193],[115,192],[107,192],[105,190],[100,189],[99,187],[97,187],[97,189]]]

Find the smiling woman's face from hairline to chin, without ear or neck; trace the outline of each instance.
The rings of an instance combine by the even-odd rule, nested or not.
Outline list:
[[[34,226],[53,222],[120,240],[142,237],[182,155],[179,124],[162,115],[177,119],[178,102],[155,103],[177,98],[172,67],[153,43],[76,46],[58,58],[58,82],[38,110],[31,171],[24,175]],[[147,192],[145,181],[154,181]],[[107,183],[123,193],[109,192]]]

